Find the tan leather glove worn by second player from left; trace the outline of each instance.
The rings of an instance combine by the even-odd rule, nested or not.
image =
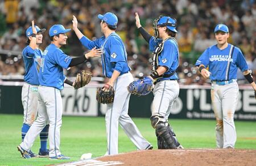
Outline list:
[[[90,78],[92,78],[90,71],[82,70],[81,73],[77,73],[74,88],[77,90],[78,88],[84,87],[90,82]]]

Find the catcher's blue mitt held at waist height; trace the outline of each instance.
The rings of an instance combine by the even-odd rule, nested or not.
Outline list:
[[[147,95],[153,89],[153,81],[146,76],[143,79],[138,79],[130,83],[127,89],[133,95]]]

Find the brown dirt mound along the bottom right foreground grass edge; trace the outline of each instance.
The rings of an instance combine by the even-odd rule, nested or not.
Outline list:
[[[256,150],[146,150],[63,165],[256,165]]]

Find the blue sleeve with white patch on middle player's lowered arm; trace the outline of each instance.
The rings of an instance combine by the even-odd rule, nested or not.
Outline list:
[[[115,39],[114,36],[110,37],[108,47],[110,51],[110,62],[126,62],[125,50],[123,49],[121,41]]]

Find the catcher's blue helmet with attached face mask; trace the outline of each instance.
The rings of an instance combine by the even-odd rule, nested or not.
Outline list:
[[[154,36],[155,36],[155,38],[159,37],[158,26],[167,27],[171,31],[177,33],[177,30],[176,30],[176,19],[172,18],[171,16],[162,16],[162,15],[160,15],[159,18],[154,20],[154,22],[153,22],[153,29],[154,29]]]

